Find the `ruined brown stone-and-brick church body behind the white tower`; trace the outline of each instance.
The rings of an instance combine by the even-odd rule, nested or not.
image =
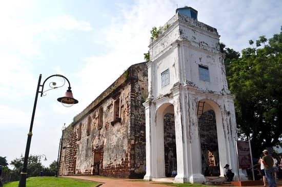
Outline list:
[[[59,175],[145,175],[146,63],[132,65],[63,131]]]

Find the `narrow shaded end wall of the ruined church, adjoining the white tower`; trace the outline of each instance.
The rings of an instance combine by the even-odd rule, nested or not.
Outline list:
[[[143,178],[146,171],[145,107],[148,97],[147,64],[132,70],[130,109],[130,178]]]

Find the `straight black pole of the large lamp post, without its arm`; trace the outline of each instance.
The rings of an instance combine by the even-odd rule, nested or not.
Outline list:
[[[26,146],[26,152],[25,152],[24,165],[23,165],[23,168],[22,168],[21,177],[19,178],[18,187],[26,187],[27,163],[28,163],[29,149],[30,149],[31,136],[32,136],[33,120],[34,120],[34,115],[35,115],[35,109],[36,109],[36,103],[37,103],[37,98],[38,98],[38,91],[39,91],[39,87],[40,87],[41,77],[42,77],[42,74],[40,74],[39,78],[38,78],[38,84],[37,84],[37,89],[36,89],[36,93],[35,93],[33,111],[32,111],[32,116],[31,116],[31,121],[30,121],[30,128],[29,128],[28,137],[27,137],[27,146]]]

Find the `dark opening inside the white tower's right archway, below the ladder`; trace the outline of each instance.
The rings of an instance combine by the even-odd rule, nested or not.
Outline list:
[[[201,106],[201,103],[198,106]],[[198,127],[202,155],[202,174],[204,176],[219,176],[220,165],[216,116],[208,102],[204,103],[202,113],[198,112]]]

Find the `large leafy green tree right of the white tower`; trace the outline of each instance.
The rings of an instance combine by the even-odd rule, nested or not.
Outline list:
[[[241,57],[221,46],[229,88],[236,96],[239,137],[251,140],[255,157],[265,148],[281,145],[282,138],[282,27],[268,41],[260,36],[257,47],[243,49]]]

